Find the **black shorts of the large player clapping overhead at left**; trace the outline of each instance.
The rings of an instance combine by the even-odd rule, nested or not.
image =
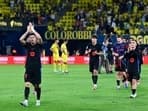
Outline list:
[[[26,68],[26,71],[24,74],[24,81],[30,82],[33,85],[41,84],[41,68],[36,68],[36,69]]]

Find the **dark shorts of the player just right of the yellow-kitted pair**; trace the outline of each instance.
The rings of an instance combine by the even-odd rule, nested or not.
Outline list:
[[[93,73],[94,70],[99,69],[99,59],[89,61],[89,71]]]

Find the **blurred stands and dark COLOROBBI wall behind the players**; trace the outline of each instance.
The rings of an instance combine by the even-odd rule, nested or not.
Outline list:
[[[0,0],[0,55],[24,55],[19,37],[28,22],[44,40],[45,55],[55,38],[69,39],[70,55],[83,55],[91,35],[135,38],[148,54],[148,0]]]

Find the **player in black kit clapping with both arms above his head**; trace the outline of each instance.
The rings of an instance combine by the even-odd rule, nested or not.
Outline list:
[[[42,38],[40,34],[34,29],[32,23],[27,26],[27,31],[20,37],[20,42],[27,50],[27,58],[25,63],[25,89],[24,89],[24,101],[20,104],[27,107],[28,97],[30,93],[31,84],[37,93],[36,106],[40,106],[41,96],[41,51],[42,51]]]

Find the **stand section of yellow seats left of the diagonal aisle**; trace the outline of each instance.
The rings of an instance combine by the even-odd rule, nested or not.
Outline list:
[[[74,0],[4,0],[11,10],[4,14],[3,20],[32,21],[36,25],[53,24],[72,2]]]

